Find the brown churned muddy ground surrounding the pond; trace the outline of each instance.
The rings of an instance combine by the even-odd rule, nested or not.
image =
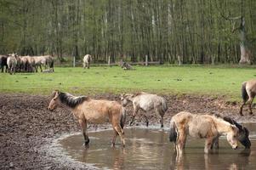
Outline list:
[[[164,97],[168,99],[168,112],[164,116],[165,127],[168,127],[171,116],[179,111],[219,113],[238,122],[256,120],[256,116],[248,115],[247,106],[244,111],[246,116],[241,117],[238,116],[239,105],[226,103],[221,99],[187,95]],[[119,100],[118,96],[113,94],[97,95],[94,98]],[[42,145],[51,144],[60,134],[80,131],[70,111],[65,108],[59,108],[54,112],[48,111],[48,101],[47,96],[0,94],[0,169],[75,168],[73,165],[63,165],[54,161],[54,158],[48,157],[46,151],[40,150]],[[132,112],[132,105],[128,105],[128,117]],[[135,120],[135,125],[144,124],[142,112],[139,112]],[[150,125],[160,126],[159,117],[153,113],[150,114],[149,120]]]

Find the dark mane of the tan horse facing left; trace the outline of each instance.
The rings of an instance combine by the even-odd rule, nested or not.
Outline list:
[[[62,104],[68,105],[71,108],[76,107],[77,105],[82,104],[83,101],[88,100],[87,96],[73,96],[68,93],[60,92],[59,99]]]

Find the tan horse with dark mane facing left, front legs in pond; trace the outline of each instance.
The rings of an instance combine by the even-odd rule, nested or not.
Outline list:
[[[125,146],[123,127],[125,123],[126,111],[117,103],[104,99],[90,99],[86,96],[73,96],[58,90],[53,92],[53,99],[48,105],[48,111],[54,111],[58,105],[65,105],[71,109],[74,116],[82,127],[84,145],[88,147],[89,138],[87,133],[88,122],[100,124],[111,122],[114,130],[112,146],[115,146],[117,134],[122,140],[122,146]]]

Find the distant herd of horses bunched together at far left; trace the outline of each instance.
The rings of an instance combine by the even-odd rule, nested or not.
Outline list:
[[[42,65],[45,70],[42,69]],[[54,57],[51,55],[42,56],[20,56],[18,54],[0,54],[1,71],[14,74],[15,72],[37,72],[40,67],[41,72],[54,71]]]

